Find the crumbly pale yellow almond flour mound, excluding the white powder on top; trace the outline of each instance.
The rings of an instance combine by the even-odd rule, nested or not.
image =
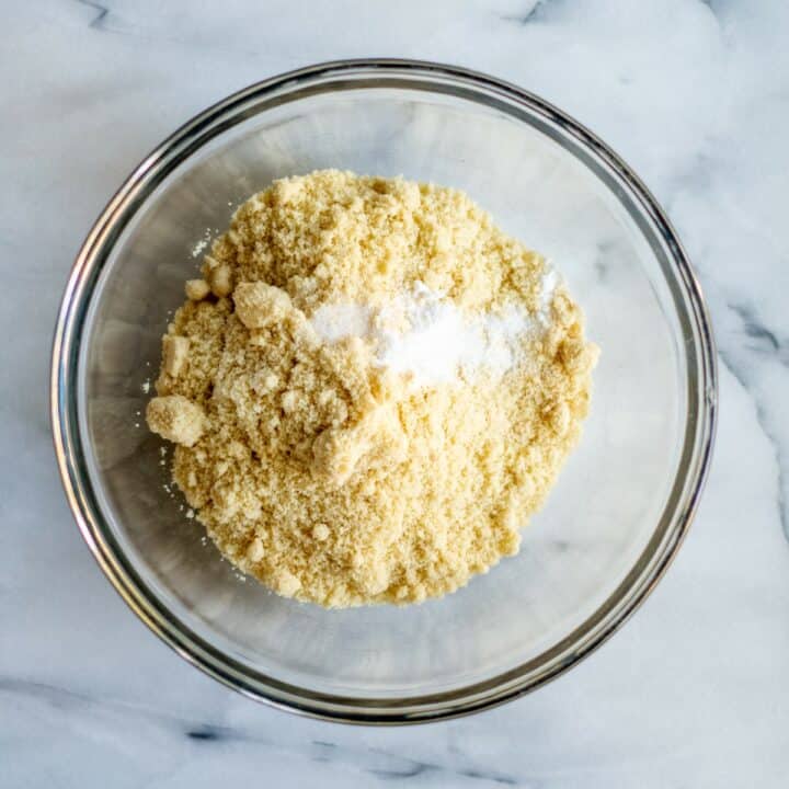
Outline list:
[[[450,188],[320,171],[251,197],[186,283],[147,411],[222,553],[330,607],[421,602],[515,553],[596,358],[565,288],[546,304],[546,271]],[[418,288],[531,329],[506,368],[425,381],[381,364],[374,334],[330,341],[311,320]]]

